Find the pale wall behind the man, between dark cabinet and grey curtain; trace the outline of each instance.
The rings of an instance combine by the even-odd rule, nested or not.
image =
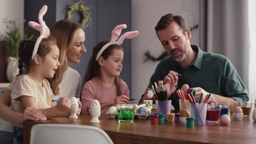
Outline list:
[[[158,57],[164,51],[154,27],[162,15],[172,13],[182,15],[192,27],[199,23],[200,0],[132,0],[132,30],[138,30],[138,37],[132,39],[132,92],[131,97],[138,103],[148,86],[150,76],[158,62],[143,62],[144,52],[149,50]],[[199,45],[199,29],[192,32],[191,44]]]

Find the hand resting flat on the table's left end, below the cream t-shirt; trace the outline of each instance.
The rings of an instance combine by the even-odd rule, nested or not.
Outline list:
[[[43,111],[28,106],[23,112],[22,121],[27,121],[28,119],[31,121],[45,121],[47,118],[45,117],[45,113]]]

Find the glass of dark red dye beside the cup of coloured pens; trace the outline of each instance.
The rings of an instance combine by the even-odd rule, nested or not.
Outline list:
[[[206,122],[207,123],[219,123],[220,109],[222,105],[212,103],[207,105]]]

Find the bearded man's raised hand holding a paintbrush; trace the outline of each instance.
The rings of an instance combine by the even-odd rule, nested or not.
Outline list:
[[[164,79],[166,85],[167,97],[170,97],[175,92],[178,83],[178,73],[170,70]]]

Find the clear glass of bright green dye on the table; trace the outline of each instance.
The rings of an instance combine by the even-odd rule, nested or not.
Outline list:
[[[118,122],[119,123],[133,123],[135,105],[133,104],[118,104]]]

